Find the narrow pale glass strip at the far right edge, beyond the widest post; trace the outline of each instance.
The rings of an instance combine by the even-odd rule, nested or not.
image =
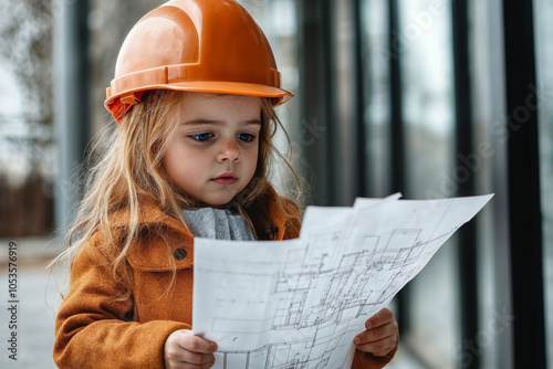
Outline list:
[[[553,365],[553,2],[534,1],[547,361]]]

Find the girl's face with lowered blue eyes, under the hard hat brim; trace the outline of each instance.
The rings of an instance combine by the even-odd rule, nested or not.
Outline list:
[[[177,186],[212,207],[225,205],[255,172],[261,98],[190,93],[164,157]]]

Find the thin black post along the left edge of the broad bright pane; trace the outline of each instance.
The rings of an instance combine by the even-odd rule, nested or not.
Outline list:
[[[390,83],[390,162],[392,162],[392,192],[405,194],[405,134],[401,95],[401,45],[399,34],[399,0],[388,2],[389,25],[389,83]],[[397,320],[399,333],[409,330],[409,285],[406,285],[397,295]]]

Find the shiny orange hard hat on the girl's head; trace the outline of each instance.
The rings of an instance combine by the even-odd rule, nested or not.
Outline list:
[[[281,88],[271,46],[234,0],[171,0],[136,23],[115,64],[105,107],[121,122],[146,89],[273,97]]]

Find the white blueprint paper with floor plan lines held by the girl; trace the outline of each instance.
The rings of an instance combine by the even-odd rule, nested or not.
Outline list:
[[[353,338],[491,199],[309,207],[300,239],[195,240],[192,330],[215,368],[349,368]]]

